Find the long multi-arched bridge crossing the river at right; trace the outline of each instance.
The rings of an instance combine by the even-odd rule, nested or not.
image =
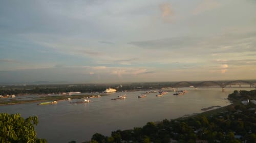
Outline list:
[[[255,88],[256,85],[250,81],[245,80],[233,80],[233,81],[201,81],[201,82],[188,82],[188,81],[180,81],[172,84],[172,88],[179,88],[179,87],[216,87],[216,88],[222,88],[222,91],[225,90],[225,88],[231,88],[232,85],[239,85],[239,88],[241,87],[241,84],[249,85],[250,88]]]

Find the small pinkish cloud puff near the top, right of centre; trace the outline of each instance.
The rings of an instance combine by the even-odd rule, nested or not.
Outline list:
[[[159,6],[161,11],[161,17],[164,22],[171,22],[173,16],[173,10],[169,3],[164,3]]]

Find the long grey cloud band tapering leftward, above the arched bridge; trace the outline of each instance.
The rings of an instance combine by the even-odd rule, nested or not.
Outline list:
[[[175,50],[186,55],[256,52],[256,32],[222,33],[214,36],[181,36],[144,41],[132,41],[128,44],[145,49]],[[186,52],[184,50],[186,49]]]

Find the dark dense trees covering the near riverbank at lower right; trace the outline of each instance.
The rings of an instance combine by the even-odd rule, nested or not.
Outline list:
[[[132,130],[113,131],[111,136],[95,133],[92,142],[256,142],[256,105],[241,104],[256,99],[254,91],[234,91],[228,97],[234,104],[215,114],[147,123]],[[210,112],[210,111],[209,111]],[[75,141],[73,141],[75,142]]]

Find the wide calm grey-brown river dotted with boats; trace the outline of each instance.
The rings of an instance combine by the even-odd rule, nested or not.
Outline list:
[[[56,105],[27,103],[0,106],[0,112],[20,113],[24,118],[37,115],[37,137],[46,138],[48,142],[82,142],[89,140],[96,132],[110,135],[118,129],[142,127],[147,122],[175,119],[184,115],[202,112],[209,106],[226,106],[225,100],[233,90],[253,90],[252,88],[179,88],[188,93],[174,96],[169,92],[161,97],[157,93],[147,94],[145,98],[138,96],[145,91],[112,93],[101,98],[93,98],[90,103],[70,104],[59,101]],[[126,94],[124,100],[111,100],[118,95]]]

